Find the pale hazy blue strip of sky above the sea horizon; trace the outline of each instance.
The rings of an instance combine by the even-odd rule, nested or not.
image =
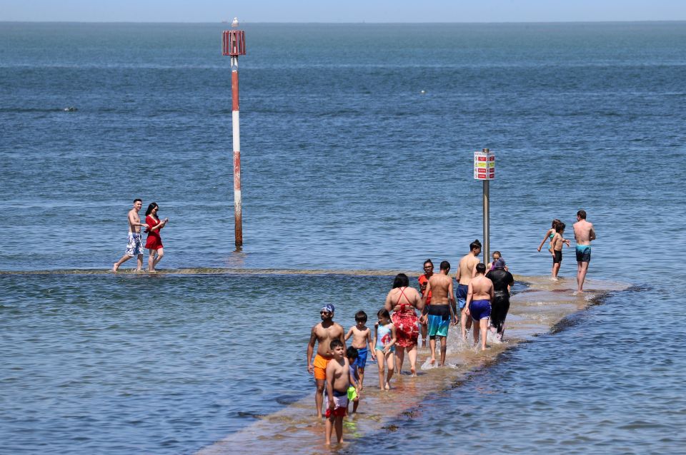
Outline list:
[[[686,0],[0,0],[0,21],[684,21]]]

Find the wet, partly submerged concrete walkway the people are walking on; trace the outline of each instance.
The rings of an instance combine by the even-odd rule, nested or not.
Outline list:
[[[279,272],[284,273],[283,270]],[[338,271],[317,271],[322,274],[332,272]],[[371,271],[369,274],[365,273],[366,271],[349,272],[351,275],[352,272],[357,272],[354,275],[395,275],[395,273]],[[269,272],[262,270],[259,273]],[[406,356],[403,374],[394,375],[390,391],[379,390],[377,365],[368,361],[359,412],[352,417],[347,417],[344,421],[344,444],[334,443],[331,448],[324,445],[324,419],[314,417],[314,382],[312,382],[312,392],[307,393],[306,397],[273,414],[263,416],[254,424],[199,450],[197,454],[231,454],[236,451],[244,453],[252,451],[260,454],[296,452],[320,454],[332,449],[344,449],[346,444],[374,431],[381,429],[394,431],[397,429],[394,426],[394,420],[400,416],[411,418],[414,409],[429,394],[459,387],[474,372],[497,362],[499,354],[505,349],[530,341],[537,334],[550,332],[567,315],[599,302],[609,292],[628,287],[625,283],[587,280],[585,285],[587,292],[575,295],[576,280],[573,276],[553,282],[549,277],[515,275],[515,280],[526,282],[529,287],[512,296],[510,300],[503,343],[489,342],[488,349],[482,352],[459,339],[459,326],[451,327],[446,361],[449,366],[428,368],[426,360],[429,358],[429,349],[420,348],[417,356],[418,377],[409,376],[409,361]],[[469,333],[469,339],[471,339],[471,333]]]

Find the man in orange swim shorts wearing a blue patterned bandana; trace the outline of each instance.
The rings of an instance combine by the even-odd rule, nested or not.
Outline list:
[[[309,335],[309,343],[307,344],[307,372],[314,374],[314,382],[317,384],[317,393],[314,394],[314,403],[317,404],[317,413],[315,415],[322,417],[327,365],[334,358],[329,346],[334,339],[339,339],[345,347],[345,332],[343,327],[333,321],[334,305],[327,303],[327,305],[322,307],[319,315],[322,316],[322,322],[312,327],[312,333]],[[317,345],[317,356],[314,357],[314,363],[312,363],[314,342],[319,342],[319,344]]]

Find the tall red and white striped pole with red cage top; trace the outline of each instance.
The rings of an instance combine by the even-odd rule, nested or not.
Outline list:
[[[231,56],[232,132],[234,138],[234,232],[236,246],[243,245],[243,213],[241,207],[241,131],[238,98],[238,56],[245,55],[245,33],[238,28],[238,18],[231,23],[232,30],[222,34],[222,53]]]

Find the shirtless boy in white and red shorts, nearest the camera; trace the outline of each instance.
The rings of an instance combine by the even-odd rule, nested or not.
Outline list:
[[[321,342],[319,343],[321,346]],[[331,434],[336,429],[338,443],[343,442],[343,417],[348,408],[348,387],[350,387],[350,365],[345,357],[345,344],[339,339],[329,342],[332,359],[326,369],[327,375],[327,426],[326,444],[331,444]],[[320,409],[321,410],[321,409]]]

